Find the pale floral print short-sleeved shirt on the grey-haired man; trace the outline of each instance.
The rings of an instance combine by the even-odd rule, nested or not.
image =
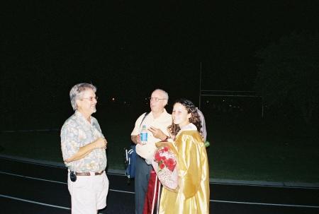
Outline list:
[[[61,150],[63,160],[72,157],[79,148],[100,137],[104,137],[98,121],[91,117],[91,124],[78,111],[65,121],[61,129]],[[101,172],[106,169],[106,151],[103,148],[93,150],[86,157],[72,162],[65,162],[65,166],[75,172]]]

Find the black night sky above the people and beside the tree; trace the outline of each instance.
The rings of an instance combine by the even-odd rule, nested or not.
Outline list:
[[[198,105],[200,63],[203,90],[253,90],[257,50],[291,32],[318,29],[319,20],[318,1],[308,0],[0,6],[4,114],[72,111],[68,93],[81,82],[96,85],[104,101],[139,102],[163,88],[170,102],[185,97]]]

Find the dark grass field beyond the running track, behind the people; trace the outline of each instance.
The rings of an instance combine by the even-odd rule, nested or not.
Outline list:
[[[319,183],[317,138],[274,135],[258,122],[213,120],[206,119],[211,178]],[[123,148],[130,145],[134,120],[112,126],[99,121],[108,140],[108,168],[124,170]],[[1,154],[62,162],[59,131],[1,133],[0,141]]]

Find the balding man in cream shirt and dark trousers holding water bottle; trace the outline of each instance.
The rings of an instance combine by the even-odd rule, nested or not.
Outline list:
[[[172,124],[172,115],[164,108],[168,102],[168,94],[162,89],[156,89],[150,97],[150,109],[148,114],[142,114],[135,122],[131,133],[131,140],[136,144],[135,160],[135,214],[142,214],[147,210],[145,198],[147,186],[152,173],[152,156],[156,150],[155,143],[169,138],[167,127]],[[147,128],[147,144],[140,140],[142,126]],[[147,200],[146,200],[147,201]],[[148,214],[148,211],[146,211]]]

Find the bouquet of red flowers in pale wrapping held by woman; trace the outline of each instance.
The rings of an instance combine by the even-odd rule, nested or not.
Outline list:
[[[172,143],[156,143],[157,151],[152,166],[159,181],[168,189],[177,189],[179,174],[177,170],[177,150]]]

